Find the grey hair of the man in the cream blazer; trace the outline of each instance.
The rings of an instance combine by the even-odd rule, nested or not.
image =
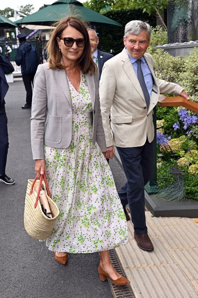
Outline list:
[[[125,38],[127,38],[129,34],[138,35],[142,30],[147,31],[147,36],[150,40],[151,27],[147,22],[142,22],[138,20],[130,21],[125,26]]]

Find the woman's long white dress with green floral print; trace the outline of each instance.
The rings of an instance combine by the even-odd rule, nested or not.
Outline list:
[[[68,78],[67,78],[68,79]],[[68,79],[73,130],[68,148],[45,145],[52,199],[60,210],[46,246],[54,252],[91,253],[128,242],[125,214],[114,179],[92,143],[92,104],[85,76],[77,92]]]

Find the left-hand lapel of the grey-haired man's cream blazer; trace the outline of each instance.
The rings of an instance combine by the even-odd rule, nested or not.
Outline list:
[[[129,80],[131,81],[131,83],[133,84],[134,88],[138,91],[138,93],[140,94],[140,96],[142,97],[142,99],[145,101],[144,99],[144,94],[142,92],[142,88],[140,86],[139,80],[136,76],[136,73],[133,69],[133,65],[131,64],[131,61],[128,57],[128,54],[125,50],[125,48],[123,49],[123,59],[122,61],[124,62],[122,67],[126,73],[126,75],[128,76]]]

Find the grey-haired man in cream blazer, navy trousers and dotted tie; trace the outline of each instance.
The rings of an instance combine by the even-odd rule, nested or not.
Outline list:
[[[137,245],[148,251],[153,244],[147,234],[144,185],[150,180],[153,161],[153,108],[160,93],[189,99],[179,85],[155,77],[153,58],[146,53],[150,34],[145,22],[126,24],[125,48],[105,63],[99,89],[106,158],[113,158],[115,144],[127,178],[118,194],[124,209],[129,204]]]

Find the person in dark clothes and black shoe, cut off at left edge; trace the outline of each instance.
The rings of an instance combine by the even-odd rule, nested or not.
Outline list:
[[[13,72],[14,67],[0,55],[0,181],[6,184],[14,184],[15,181],[5,174],[7,152],[8,152],[8,132],[7,132],[7,116],[5,112],[4,97],[8,91],[8,83],[5,74]]]

